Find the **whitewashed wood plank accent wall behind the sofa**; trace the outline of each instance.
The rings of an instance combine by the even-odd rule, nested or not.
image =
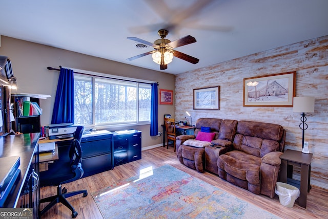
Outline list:
[[[219,52],[219,50],[218,50]],[[293,107],[243,107],[243,78],[296,71],[296,96],[315,97],[305,141],[313,153],[311,184],[328,189],[328,36],[240,57],[175,78],[175,118],[221,118],[276,123],[286,129],[285,149],[301,150],[300,113]],[[220,86],[219,110],[193,110],[193,89]],[[295,179],[299,171],[295,173]]]

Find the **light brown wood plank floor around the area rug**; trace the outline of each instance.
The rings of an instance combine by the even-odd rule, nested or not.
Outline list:
[[[166,149],[166,147],[158,147],[142,151],[141,160],[123,164],[112,170],[79,179],[75,182],[65,184],[63,187],[65,186],[68,191],[81,189],[88,190],[88,196],[85,198],[83,198],[82,194],[68,198],[68,201],[78,212],[77,218],[103,218],[92,198],[92,192],[136,176],[142,168],[149,166],[157,168],[165,164],[170,164],[282,218],[327,218],[328,215],[328,190],[326,189],[312,186],[310,193],[308,193],[306,209],[300,207],[297,203],[298,201],[295,202],[293,208],[284,207],[279,203],[277,195],[273,199],[263,195],[255,195],[247,190],[221,180],[215,174],[209,172],[199,173],[196,170],[182,165],[176,158],[173,147],[169,147],[169,149]],[[54,195],[56,193],[56,187],[41,188],[40,193],[41,198]],[[40,205],[40,208],[43,208],[44,206],[45,204],[43,203]],[[71,211],[63,204],[56,204],[48,212],[42,215],[42,218],[71,218]]]

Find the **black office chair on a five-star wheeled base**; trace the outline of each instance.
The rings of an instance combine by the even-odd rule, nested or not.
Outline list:
[[[61,188],[61,184],[73,182],[83,176],[84,171],[81,166],[82,150],[80,144],[83,130],[83,126],[77,126],[76,131],[74,133],[73,142],[69,150],[70,160],[65,162],[64,165],[61,165],[61,168],[59,169],[60,175],[65,176],[65,180],[63,179],[63,177],[57,177],[55,175],[53,176],[52,184],[57,186],[57,194],[40,200],[40,203],[50,202],[42,211],[40,211],[40,215],[44,214],[52,206],[60,202],[72,211],[72,217],[75,218],[77,216],[77,212],[66,199],[73,195],[81,193],[83,193],[84,197],[88,195],[87,190],[67,192],[67,189],[65,187],[63,189]]]

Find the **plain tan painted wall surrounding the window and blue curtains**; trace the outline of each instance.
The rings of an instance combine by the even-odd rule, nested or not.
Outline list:
[[[0,55],[8,56],[12,62],[14,76],[17,78],[17,93],[49,94],[51,98],[40,100],[43,108],[41,124],[51,122],[52,109],[59,77],[58,71],[47,70],[47,67],[69,67],[86,71],[119,75],[136,79],[157,81],[158,89],[174,90],[175,77],[158,71],[133,67],[106,59],[83,55],[67,50],[57,49],[11,37],[1,36]],[[163,123],[163,115],[174,115],[174,105],[159,105],[158,123]],[[150,136],[150,125],[109,128],[110,131],[135,128],[142,132],[142,147],[160,144],[161,137]]]

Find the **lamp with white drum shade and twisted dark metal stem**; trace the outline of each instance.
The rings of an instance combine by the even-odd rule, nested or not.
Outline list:
[[[293,111],[301,114],[301,123],[299,124],[300,129],[303,131],[302,135],[302,152],[304,148],[304,130],[308,128],[306,122],[305,113],[314,113],[314,97],[294,97]],[[306,149],[308,153],[309,149]]]

